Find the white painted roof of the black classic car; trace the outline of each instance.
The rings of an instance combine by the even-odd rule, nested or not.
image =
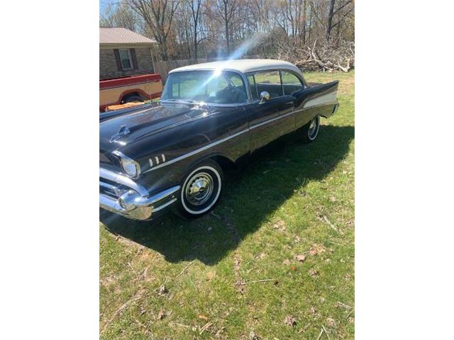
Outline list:
[[[202,64],[193,64],[177,69],[172,69],[170,73],[195,71],[201,69],[233,69],[235,71],[247,73],[264,71],[267,69],[288,69],[301,74],[301,70],[290,62],[273,59],[240,59],[240,60],[223,60],[221,62],[204,62]]]

